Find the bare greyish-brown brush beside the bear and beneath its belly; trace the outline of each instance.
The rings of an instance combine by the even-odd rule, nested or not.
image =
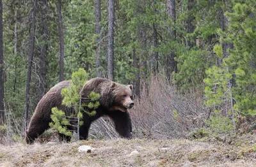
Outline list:
[[[204,126],[209,111],[202,105],[202,96],[177,93],[164,77],[152,77],[141,91],[141,99],[129,112],[132,133],[136,138],[186,138],[190,131]],[[93,138],[116,138],[118,134],[108,119],[99,119],[90,130]]]

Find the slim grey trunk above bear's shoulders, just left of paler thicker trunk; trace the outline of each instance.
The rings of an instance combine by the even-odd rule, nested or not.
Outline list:
[[[95,0],[95,29],[96,29],[96,34],[97,34],[97,48],[96,48],[96,75],[98,77],[102,76],[102,69],[100,68],[100,40],[102,39],[101,36],[101,27],[100,27],[100,21],[101,21],[101,11],[100,11],[100,0]]]

